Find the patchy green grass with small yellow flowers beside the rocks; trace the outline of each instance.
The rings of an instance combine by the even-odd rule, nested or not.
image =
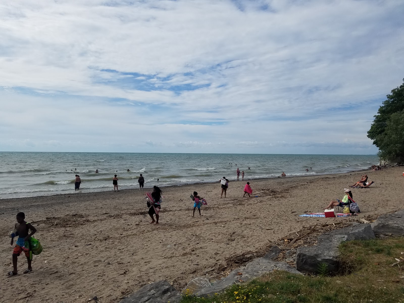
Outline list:
[[[398,251],[398,252],[397,252]],[[404,269],[390,265],[404,257],[404,238],[345,242],[343,276],[303,276],[275,271],[205,299],[185,295],[181,303],[397,303],[404,302]]]

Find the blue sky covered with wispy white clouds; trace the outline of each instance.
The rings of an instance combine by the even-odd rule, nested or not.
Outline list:
[[[4,0],[0,151],[375,154],[402,0]]]

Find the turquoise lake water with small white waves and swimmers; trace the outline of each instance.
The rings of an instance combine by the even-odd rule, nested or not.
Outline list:
[[[0,163],[0,198],[15,198],[74,193],[76,174],[82,180],[80,192],[89,192],[113,189],[115,174],[120,189],[126,189],[138,187],[140,173],[145,177],[145,187],[152,187],[213,182],[223,176],[236,179],[237,167],[244,170],[247,179],[277,177],[282,171],[295,176],[343,173],[368,168],[377,164],[378,158],[375,155],[0,152]],[[251,169],[247,170],[248,167]],[[95,173],[96,169],[99,173]]]

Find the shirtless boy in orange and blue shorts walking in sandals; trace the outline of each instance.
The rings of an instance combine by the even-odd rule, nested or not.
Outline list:
[[[7,273],[7,276],[15,276],[18,274],[17,271],[17,257],[21,254],[23,251],[23,246],[24,242],[28,241],[29,238],[36,233],[36,229],[34,226],[31,225],[31,223],[25,222],[25,214],[24,213],[18,213],[17,214],[17,223],[15,223],[15,229],[17,229],[18,232],[18,239],[17,243],[15,244],[14,250],[13,250],[13,271],[10,271]],[[31,229],[31,234],[28,233],[29,229]],[[14,238],[11,238],[11,246],[13,246],[14,243]],[[28,268],[25,269],[24,274],[28,274],[29,272],[32,271],[31,267],[31,261],[29,259],[29,250],[24,250],[25,257],[27,257],[28,261]]]

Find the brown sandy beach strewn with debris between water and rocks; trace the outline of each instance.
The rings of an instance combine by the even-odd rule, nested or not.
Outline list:
[[[242,198],[246,181],[232,181],[227,198],[220,184],[162,187],[160,224],[150,225],[145,191],[64,194],[0,200],[1,302],[119,302],[124,295],[162,279],[181,289],[191,278],[231,254],[253,250],[297,231],[303,225],[351,218],[298,217],[321,212],[328,202],[343,198],[344,188],[366,173],[375,181],[368,189],[352,189],[362,213],[359,218],[402,208],[403,168],[338,175],[250,180],[258,198]],[[196,190],[208,201],[202,217],[189,198]],[[74,191],[74,189],[72,189]],[[23,211],[37,228],[44,247],[34,256],[34,271],[24,256],[19,275],[12,270],[8,232]],[[24,298],[24,299],[22,299]]]

